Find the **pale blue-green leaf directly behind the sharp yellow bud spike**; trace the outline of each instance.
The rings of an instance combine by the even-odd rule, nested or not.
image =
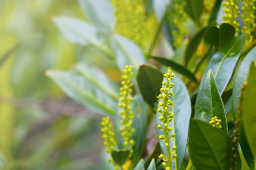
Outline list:
[[[174,76],[173,83],[174,95],[170,99],[174,102],[174,106],[170,108],[170,111],[174,113],[175,119],[171,122],[171,126],[176,133],[175,140],[177,145],[177,167],[179,169],[182,164],[187,146],[189,121],[191,117],[191,102],[186,85],[184,85],[177,76]],[[162,122],[158,119],[159,116],[160,114],[157,113],[157,124],[162,124]],[[174,133],[174,130],[170,132],[170,136],[172,133]],[[158,135],[163,135],[163,132],[158,130]],[[161,149],[166,155],[164,143],[161,140],[159,141]],[[173,140],[170,140],[170,149],[172,149],[174,145],[173,142]]]

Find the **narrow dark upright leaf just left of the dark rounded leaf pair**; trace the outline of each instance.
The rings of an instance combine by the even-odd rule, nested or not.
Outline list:
[[[193,57],[193,55],[196,53],[197,51],[197,46],[199,45],[200,41],[203,38],[203,35],[206,31],[206,28],[203,28],[202,30],[200,30],[189,42],[186,51],[185,51],[185,66],[188,65],[190,59]]]

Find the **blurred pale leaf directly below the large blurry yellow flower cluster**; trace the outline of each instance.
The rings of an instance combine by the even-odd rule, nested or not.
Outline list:
[[[141,49],[131,40],[115,34],[111,40],[112,49],[115,52],[118,68],[124,69],[125,65],[132,65],[138,69],[140,65],[146,64]]]

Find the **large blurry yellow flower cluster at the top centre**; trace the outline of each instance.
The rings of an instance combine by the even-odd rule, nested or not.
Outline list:
[[[117,32],[138,46],[146,43],[146,11],[143,0],[111,0],[115,8]]]

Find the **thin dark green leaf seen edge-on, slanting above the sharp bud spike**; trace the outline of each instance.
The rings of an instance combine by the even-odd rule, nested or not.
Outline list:
[[[183,76],[189,78],[194,83],[198,84],[195,75],[190,70],[188,70],[187,68],[177,64],[176,62],[174,62],[172,60],[168,60],[168,59],[163,58],[163,57],[152,56],[150,58],[152,58],[154,60],[157,60],[162,65],[165,65],[167,67],[171,67],[173,70],[177,71],[178,73],[182,74]]]

